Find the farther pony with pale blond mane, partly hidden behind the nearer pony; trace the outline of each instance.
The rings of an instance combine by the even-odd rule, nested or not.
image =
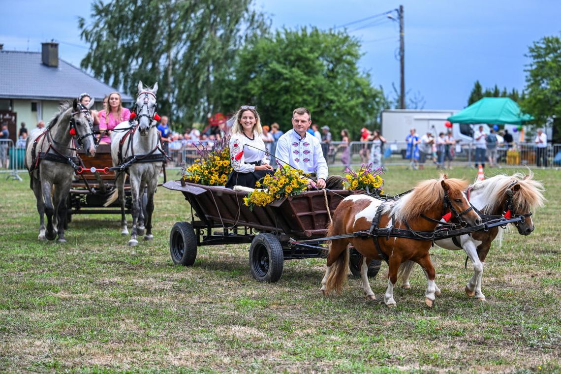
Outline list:
[[[484,181],[477,181],[468,187],[468,198],[470,203],[483,214],[507,215],[507,217],[524,215],[524,221],[514,223],[514,225],[519,234],[530,235],[534,231],[534,221],[528,214],[536,207],[543,206],[545,201],[543,184],[533,178],[534,174],[530,172],[527,176],[521,173],[513,176],[502,174]],[[464,250],[467,257],[470,258],[473,264],[473,276],[466,285],[466,294],[469,297],[475,295],[476,299],[485,300],[485,295],[481,292],[484,261],[491,248],[491,242],[497,236],[499,236],[500,242],[502,231],[502,229],[494,227],[486,232],[483,230],[473,232],[471,236],[465,234],[435,241],[439,247],[447,250]],[[405,289],[411,287],[409,277],[413,264],[413,262],[406,262],[400,269],[402,287]],[[438,287],[436,287],[436,295],[440,295]]]

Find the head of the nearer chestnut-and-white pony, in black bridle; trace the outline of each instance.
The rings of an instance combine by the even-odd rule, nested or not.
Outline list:
[[[444,219],[458,219],[468,225],[481,224],[481,217],[467,200],[466,183],[460,179],[448,178],[446,174],[440,179],[440,186],[444,190]]]

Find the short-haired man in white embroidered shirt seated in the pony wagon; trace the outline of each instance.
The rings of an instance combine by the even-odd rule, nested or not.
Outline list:
[[[328,177],[327,162],[321,151],[318,138],[307,132],[311,124],[310,110],[297,108],[292,112],[292,130],[287,131],[277,142],[275,158],[278,164],[289,164],[304,170],[310,179],[315,179],[318,188],[342,190],[341,176]],[[314,183],[310,184],[311,187]]]

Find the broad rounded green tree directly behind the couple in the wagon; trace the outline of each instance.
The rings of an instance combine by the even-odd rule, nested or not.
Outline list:
[[[335,138],[343,128],[356,137],[386,105],[370,75],[358,71],[360,57],[358,40],[342,31],[280,30],[238,53],[222,102],[228,110],[256,105],[264,123],[278,122],[284,131],[292,110],[306,107],[312,122],[329,126]]]

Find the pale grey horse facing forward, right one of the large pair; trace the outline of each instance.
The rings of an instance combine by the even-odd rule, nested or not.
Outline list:
[[[134,121],[119,123],[111,133],[111,157],[114,167],[121,167],[117,171],[116,185],[119,201],[121,202],[121,234],[128,235],[127,219],[125,216],[125,173],[128,174],[132,196],[132,232],[129,246],[138,244],[137,234],[144,234],[145,240],[153,239],[152,213],[154,211],[154,193],[158,186],[158,176],[165,160],[165,153],[160,143],[160,136],[156,128],[159,116],[156,113],[158,83],[154,87],[144,87],[138,84],[136,109],[131,114]],[[140,203],[141,191],[148,190],[146,215]],[[114,201],[109,197],[108,203]],[[108,204],[105,203],[105,204]]]

